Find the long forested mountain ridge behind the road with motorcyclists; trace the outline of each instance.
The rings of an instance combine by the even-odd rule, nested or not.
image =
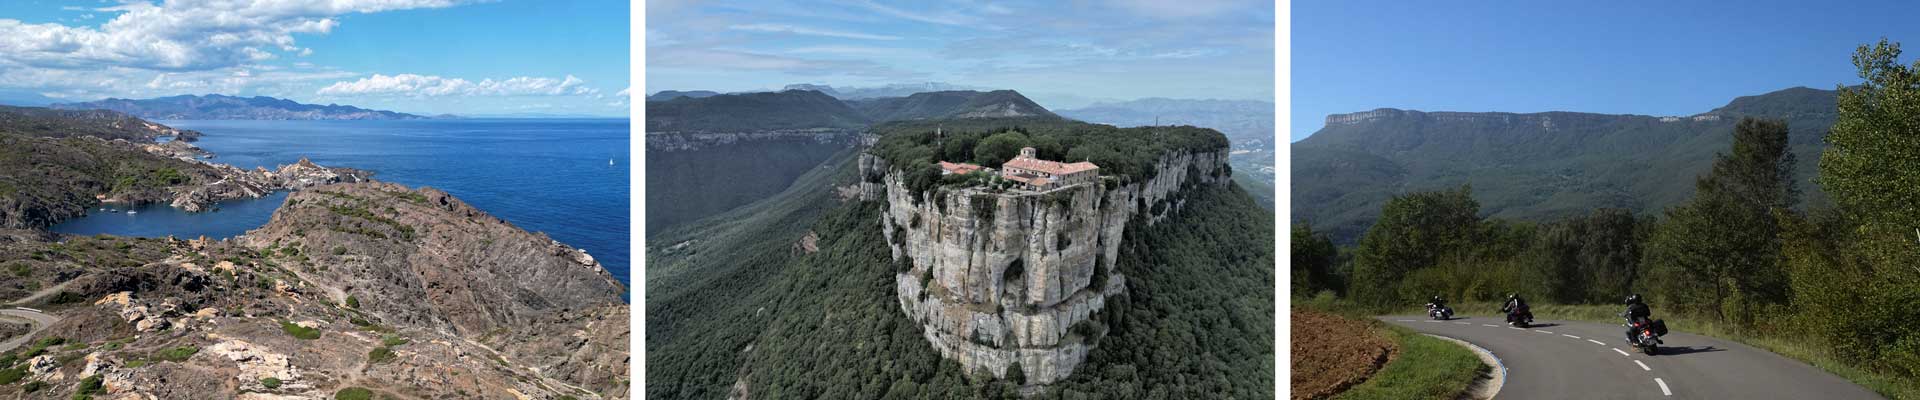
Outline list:
[[[1482,215],[1549,221],[1594,208],[1655,215],[1693,194],[1715,154],[1730,152],[1740,117],[1786,119],[1801,204],[1826,202],[1812,183],[1836,92],[1786,88],[1734,98],[1695,115],[1578,112],[1411,112],[1327,115],[1292,144],[1294,221],[1354,242],[1394,194],[1473,187]]]

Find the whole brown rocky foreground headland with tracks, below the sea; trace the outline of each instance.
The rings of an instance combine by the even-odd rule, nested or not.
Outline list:
[[[628,396],[624,288],[586,252],[434,188],[313,187],[228,240],[54,240],[0,237],[0,263],[29,271],[0,283],[60,283],[19,302],[52,313],[17,337],[50,342],[19,367],[44,392]]]

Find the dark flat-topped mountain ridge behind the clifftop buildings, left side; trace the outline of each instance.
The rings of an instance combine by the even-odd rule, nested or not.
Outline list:
[[[655,94],[659,96],[659,94]],[[651,98],[651,96],[649,96]],[[674,96],[647,100],[647,131],[862,129],[881,121],[966,117],[1060,117],[1014,90],[916,92],[839,100],[820,90]]]

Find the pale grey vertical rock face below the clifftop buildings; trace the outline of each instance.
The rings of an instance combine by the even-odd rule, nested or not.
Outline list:
[[[1227,152],[1169,154],[1142,183],[1077,185],[1050,192],[931,190],[916,198],[904,173],[862,156],[862,200],[885,200],[881,229],[900,310],[941,356],[968,371],[1027,383],[1066,379],[1096,346],[1106,298],[1127,290],[1114,267],[1137,213],[1162,221],[1188,185],[1229,185]]]

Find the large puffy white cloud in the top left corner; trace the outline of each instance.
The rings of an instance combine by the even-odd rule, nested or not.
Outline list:
[[[33,67],[205,71],[303,52],[294,35],[326,35],[346,13],[447,8],[468,0],[127,2],[100,27],[0,19],[0,60]]]

